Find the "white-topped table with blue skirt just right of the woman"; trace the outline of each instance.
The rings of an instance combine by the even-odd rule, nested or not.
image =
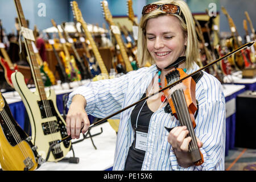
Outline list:
[[[234,148],[236,132],[236,97],[246,90],[245,85],[222,85],[226,102],[226,148],[225,155]]]

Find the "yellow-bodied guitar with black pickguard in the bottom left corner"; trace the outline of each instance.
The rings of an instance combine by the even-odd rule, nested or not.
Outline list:
[[[0,92],[0,163],[4,171],[34,171],[41,156],[36,146],[13,118],[10,107]]]

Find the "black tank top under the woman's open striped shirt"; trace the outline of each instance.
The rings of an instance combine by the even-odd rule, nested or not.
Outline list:
[[[146,93],[143,94],[142,98],[144,97],[146,97]],[[135,129],[138,114],[139,117],[137,126],[148,129],[150,118],[154,112],[148,108],[147,102],[144,102],[145,101],[142,101],[137,104],[131,112],[131,126],[133,126],[133,129]],[[141,112],[139,112],[139,110],[141,110]],[[134,149],[133,141],[133,144],[131,144],[126,158],[125,171],[141,171],[144,156],[145,151]]]

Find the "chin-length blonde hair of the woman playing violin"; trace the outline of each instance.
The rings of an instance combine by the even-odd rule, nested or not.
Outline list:
[[[168,0],[163,0],[163,1],[158,1],[154,2],[154,4],[174,4],[180,7],[181,12],[184,15],[185,22],[181,16],[177,14],[167,14],[164,13],[161,10],[155,10],[152,11],[151,13],[148,13],[146,15],[143,15],[141,18],[141,21],[139,23],[139,33],[138,33],[138,52],[137,52],[137,57],[138,57],[138,62],[139,66],[143,67],[146,62],[148,61],[151,64],[154,64],[155,61],[152,59],[150,53],[147,50],[147,40],[146,40],[146,24],[147,20],[150,18],[156,18],[158,16],[162,15],[172,15],[176,16],[180,20],[180,25],[181,28],[184,31],[184,35],[187,35],[187,46],[185,50],[185,56],[186,56],[186,68],[189,69],[192,67],[193,62],[197,60],[198,58],[198,43],[197,43],[197,35],[196,35],[196,30],[195,30],[195,24],[193,22],[193,17],[191,14],[191,11],[189,10],[189,7],[187,3],[185,3],[182,0],[179,1],[168,1]]]

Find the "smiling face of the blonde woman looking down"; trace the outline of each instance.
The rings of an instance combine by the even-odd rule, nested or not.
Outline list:
[[[147,49],[160,69],[185,56],[185,34],[176,16],[164,15],[148,19],[146,24]]]

